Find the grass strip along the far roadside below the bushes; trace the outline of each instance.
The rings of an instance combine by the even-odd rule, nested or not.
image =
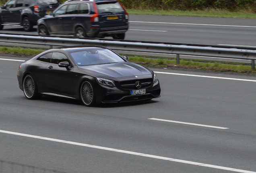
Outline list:
[[[140,15],[161,15],[161,16],[194,16],[194,17],[216,17],[216,18],[248,18],[256,19],[256,13],[251,10],[240,10],[238,12],[229,12],[220,9],[208,10],[139,10],[127,9],[129,14]]]

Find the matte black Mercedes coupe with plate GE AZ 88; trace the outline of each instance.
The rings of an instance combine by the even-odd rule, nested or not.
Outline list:
[[[54,95],[81,99],[85,106],[160,97],[157,75],[100,46],[47,50],[22,62],[19,87],[27,99]]]

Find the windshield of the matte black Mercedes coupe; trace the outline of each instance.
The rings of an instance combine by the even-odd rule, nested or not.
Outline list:
[[[104,48],[87,49],[71,55],[78,66],[124,62],[120,56]]]

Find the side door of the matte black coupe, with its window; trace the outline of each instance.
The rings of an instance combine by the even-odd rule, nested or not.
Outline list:
[[[62,52],[53,52],[51,63],[45,69],[45,78],[48,89],[54,93],[65,95],[73,95],[73,70],[74,68],[59,67],[60,62],[70,61],[68,57]]]

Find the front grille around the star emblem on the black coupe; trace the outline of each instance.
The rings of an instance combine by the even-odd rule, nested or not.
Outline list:
[[[123,89],[137,89],[135,87],[135,82],[140,81],[142,86],[140,89],[145,89],[149,87],[152,83],[152,78],[145,78],[145,79],[139,79],[139,80],[128,80],[128,81],[122,81],[120,82],[120,85]]]

